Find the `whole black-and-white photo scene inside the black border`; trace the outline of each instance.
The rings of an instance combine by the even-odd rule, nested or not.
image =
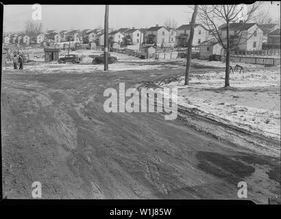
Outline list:
[[[280,1],[3,2],[1,59],[1,198],[280,205]]]

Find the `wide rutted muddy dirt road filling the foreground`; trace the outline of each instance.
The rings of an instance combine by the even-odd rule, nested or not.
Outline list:
[[[106,88],[118,90],[119,82],[130,88],[179,71],[184,68],[4,70],[3,195],[32,198],[32,183],[40,181],[42,198],[238,198],[237,184],[245,181],[249,199],[280,202],[280,157],[219,141],[180,118],[104,112]]]

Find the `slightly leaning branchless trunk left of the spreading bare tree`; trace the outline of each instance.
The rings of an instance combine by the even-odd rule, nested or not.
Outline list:
[[[189,70],[191,68],[191,52],[192,52],[192,42],[193,42],[193,35],[194,35],[194,24],[197,16],[198,5],[195,5],[192,18],[191,18],[191,34],[188,40],[188,48],[187,48],[187,57],[186,57],[186,70],[185,70],[185,80],[184,85],[189,84]]]

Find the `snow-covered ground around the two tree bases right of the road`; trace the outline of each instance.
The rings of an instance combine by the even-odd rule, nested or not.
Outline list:
[[[198,114],[280,140],[280,69],[231,74],[228,89],[224,74],[194,73],[190,86],[183,86],[184,77],[160,86],[178,88],[179,105]]]

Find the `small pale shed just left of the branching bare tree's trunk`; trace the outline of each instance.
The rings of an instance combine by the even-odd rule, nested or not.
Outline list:
[[[219,42],[205,41],[199,44],[199,59],[208,60],[210,55],[223,55],[223,46]]]

